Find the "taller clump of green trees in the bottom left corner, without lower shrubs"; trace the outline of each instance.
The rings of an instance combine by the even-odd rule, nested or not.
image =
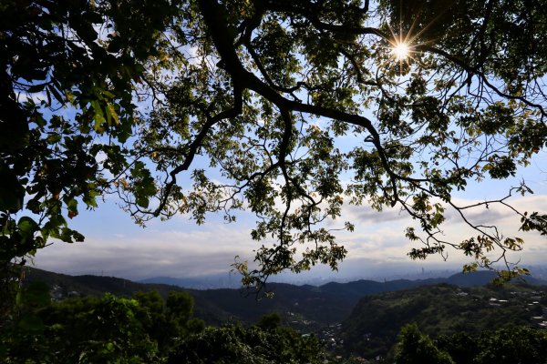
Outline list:
[[[166,300],[151,291],[52,303],[46,285],[35,282],[18,301],[0,333],[5,363],[160,363],[181,339],[204,329],[186,292]]]

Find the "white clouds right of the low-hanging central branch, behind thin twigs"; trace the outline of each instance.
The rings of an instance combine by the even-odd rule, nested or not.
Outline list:
[[[454,202],[463,206],[479,201],[459,198]],[[511,206],[522,211],[545,211],[547,196],[514,197],[509,202]],[[479,235],[477,231],[468,227],[455,211],[449,210],[448,217],[442,226],[444,234],[439,238],[458,244],[465,238]],[[504,237],[524,238],[525,244],[522,251],[509,255],[511,261],[520,260],[521,265],[527,265],[542,263],[547,258],[546,238],[537,233],[520,231],[520,217],[509,207],[500,204],[490,204],[489,208],[476,207],[467,210],[466,217],[474,224],[496,225]],[[339,241],[345,243],[349,250],[348,258],[372,258],[377,261],[408,260],[408,251],[411,248],[420,248],[420,243],[411,242],[405,237],[406,227],[413,226],[418,232],[420,231],[418,223],[397,208],[376,212],[366,206],[345,206],[342,218],[356,226],[356,231],[352,234],[346,232],[339,234]],[[470,258],[454,249],[448,249],[447,253],[451,263],[470,261]],[[429,260],[440,261],[442,258],[431,257],[428,258]]]

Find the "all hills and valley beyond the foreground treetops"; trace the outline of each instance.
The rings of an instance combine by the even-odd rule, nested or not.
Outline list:
[[[157,291],[167,298],[170,291],[185,291],[195,300],[194,317],[208,324],[253,323],[274,311],[285,325],[317,334],[335,354],[382,357],[392,362],[397,334],[412,322],[432,339],[463,332],[480,334],[510,325],[538,327],[542,320],[537,318],[547,316],[547,287],[471,287],[491,278],[491,273],[479,272],[421,281],[359,280],[321,287],[270,284],[268,288],[275,293],[273,299],[257,299],[252,292],[241,289],[186,289],[122,278],[72,277],[40,269],[30,269],[26,282],[46,282],[57,300],[100,297],[106,292],[131,297],[139,291]],[[458,282],[459,286],[439,281]]]

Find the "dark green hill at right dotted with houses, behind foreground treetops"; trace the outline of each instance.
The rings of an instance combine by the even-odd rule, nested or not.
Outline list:
[[[362,298],[336,336],[343,349],[364,358],[385,357],[402,326],[417,323],[432,339],[459,332],[480,334],[547,320],[547,287],[458,287],[440,284]],[[542,324],[543,325],[543,324]],[[341,348],[342,349],[342,348]]]

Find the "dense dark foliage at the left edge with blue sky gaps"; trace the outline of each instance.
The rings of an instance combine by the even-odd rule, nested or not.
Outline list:
[[[49,238],[84,239],[67,220],[97,207],[129,168],[136,85],[161,62],[159,35],[176,10],[168,1],[0,5],[2,277]],[[6,292],[10,279],[0,282]]]

